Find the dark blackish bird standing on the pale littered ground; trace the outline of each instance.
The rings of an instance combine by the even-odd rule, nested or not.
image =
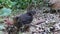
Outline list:
[[[21,29],[22,26],[25,27],[25,29],[27,29],[29,27],[29,24],[32,22],[33,20],[33,15],[36,14],[36,11],[28,11],[25,14],[22,14],[20,16],[16,16],[14,17],[15,23],[14,25],[18,28]],[[27,25],[28,24],[28,25]],[[24,29],[24,28],[23,28]]]

